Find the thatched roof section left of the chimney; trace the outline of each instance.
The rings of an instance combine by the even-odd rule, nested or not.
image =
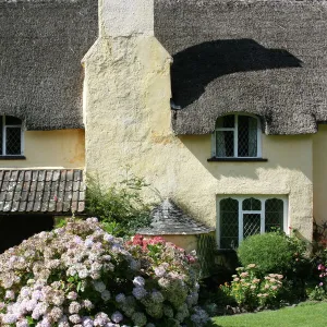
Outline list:
[[[83,128],[81,60],[97,20],[96,0],[0,0],[0,114],[29,130]]]

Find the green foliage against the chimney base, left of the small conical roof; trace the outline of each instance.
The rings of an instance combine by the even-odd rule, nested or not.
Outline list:
[[[88,177],[86,211],[97,217],[107,232],[116,237],[132,235],[150,223],[153,205],[142,198],[142,192],[148,186],[144,179],[129,172],[109,189],[105,189],[98,178]]]

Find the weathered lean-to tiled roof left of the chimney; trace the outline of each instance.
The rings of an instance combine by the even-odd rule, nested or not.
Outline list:
[[[84,211],[83,170],[0,170],[0,214]]]

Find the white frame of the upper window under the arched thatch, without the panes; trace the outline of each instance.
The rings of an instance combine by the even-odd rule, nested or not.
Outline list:
[[[262,124],[261,124],[261,120],[258,119],[257,116],[254,114],[250,114],[250,113],[230,113],[230,114],[223,114],[221,117],[219,117],[218,119],[222,118],[222,117],[227,117],[227,116],[234,116],[234,126],[233,128],[216,128],[215,132],[213,133],[211,136],[211,155],[214,158],[240,158],[240,159],[249,159],[249,158],[262,158]],[[257,146],[257,152],[256,152],[256,156],[255,157],[239,157],[239,116],[247,116],[247,117],[252,117],[255,118],[257,121],[257,137],[256,137],[256,146]],[[216,154],[216,132],[225,132],[225,131],[231,131],[234,132],[234,156],[233,157],[217,157]]]

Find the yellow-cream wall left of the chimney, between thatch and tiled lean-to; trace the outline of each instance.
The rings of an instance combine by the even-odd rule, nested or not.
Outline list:
[[[25,160],[0,160],[3,168],[84,168],[84,130],[25,131]]]

